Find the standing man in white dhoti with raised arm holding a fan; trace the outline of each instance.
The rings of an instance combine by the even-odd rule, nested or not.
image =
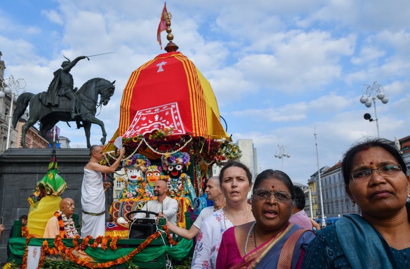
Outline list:
[[[110,182],[103,182],[101,173],[114,173],[125,154],[125,149],[119,150],[119,157],[110,166],[99,164],[103,159],[103,146],[90,148],[91,159],[84,168],[83,185],[81,186],[81,207],[83,208],[81,237],[91,235],[105,236],[106,196],[104,191],[111,187]]]

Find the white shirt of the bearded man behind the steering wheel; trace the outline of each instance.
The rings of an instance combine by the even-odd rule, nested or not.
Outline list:
[[[147,210],[147,205],[148,205],[148,211],[152,212],[160,212],[162,211],[163,214],[167,217],[168,221],[171,222],[172,224],[176,225],[176,213],[178,211],[178,202],[177,200],[166,197],[163,199],[162,203],[159,203],[158,200],[152,200],[148,201],[144,206],[142,206],[141,210]],[[145,213],[137,213],[135,214],[135,218],[145,218],[146,214]],[[156,218],[155,215],[149,214],[149,218]]]

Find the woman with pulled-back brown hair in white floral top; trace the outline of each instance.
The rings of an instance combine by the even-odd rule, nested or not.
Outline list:
[[[222,234],[232,226],[254,220],[247,199],[252,188],[249,168],[238,161],[228,162],[219,173],[219,184],[226,205],[202,222],[191,268],[215,268]]]

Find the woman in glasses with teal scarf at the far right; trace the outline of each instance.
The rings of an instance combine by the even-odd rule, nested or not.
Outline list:
[[[309,245],[303,268],[409,268],[410,177],[392,141],[366,139],[342,161],[347,195],[362,216],[345,215]]]

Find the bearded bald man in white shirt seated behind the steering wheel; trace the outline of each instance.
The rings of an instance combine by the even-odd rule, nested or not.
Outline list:
[[[176,225],[176,213],[178,211],[178,202],[167,196],[168,185],[165,180],[158,180],[155,182],[154,195],[156,200],[148,201],[141,210],[148,210],[152,212],[158,212],[161,216],[165,216],[169,221]],[[134,217],[145,218],[145,213],[137,213]],[[155,218],[155,215],[149,214],[149,218]],[[157,217],[158,219],[159,217]]]

